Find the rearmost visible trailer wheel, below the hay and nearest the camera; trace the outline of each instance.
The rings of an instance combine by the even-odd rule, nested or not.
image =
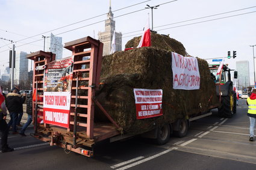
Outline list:
[[[170,126],[168,123],[164,124],[157,129],[157,139],[158,145],[164,145],[169,141],[170,138]]]

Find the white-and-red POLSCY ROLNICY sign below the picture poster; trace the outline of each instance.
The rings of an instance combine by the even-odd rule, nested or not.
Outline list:
[[[43,93],[43,122],[69,127],[70,92]]]

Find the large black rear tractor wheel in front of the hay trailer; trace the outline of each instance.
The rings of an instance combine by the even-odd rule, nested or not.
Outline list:
[[[229,87],[228,96],[221,97],[221,106],[219,108],[220,117],[231,118],[234,109],[234,97],[232,87]]]

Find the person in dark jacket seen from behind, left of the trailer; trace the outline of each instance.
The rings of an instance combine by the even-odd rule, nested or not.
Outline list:
[[[8,93],[6,104],[11,117],[8,123],[8,129],[12,126],[13,135],[16,135],[19,133],[17,132],[17,117],[20,111],[20,105],[22,105],[22,98],[20,94],[17,94],[17,90],[13,90],[13,93]]]

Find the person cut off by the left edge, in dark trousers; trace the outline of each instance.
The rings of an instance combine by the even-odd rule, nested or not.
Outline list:
[[[0,131],[1,131],[1,151],[2,153],[13,151],[7,144],[8,140],[8,126],[6,123],[7,109],[5,106],[5,97],[2,94],[2,87],[0,87]]]

